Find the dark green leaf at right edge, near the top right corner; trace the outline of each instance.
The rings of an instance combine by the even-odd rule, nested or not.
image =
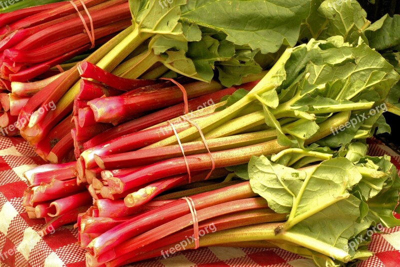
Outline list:
[[[388,14],[374,22],[365,30],[369,46],[384,50],[400,44],[400,15],[390,17]]]

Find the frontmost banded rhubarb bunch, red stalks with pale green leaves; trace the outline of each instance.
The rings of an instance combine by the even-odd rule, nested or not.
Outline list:
[[[392,215],[400,178],[389,157],[357,155],[303,169],[254,156],[240,173],[249,181],[167,194],[152,202],[169,202],[118,219],[81,214],[81,243],[92,250],[86,264],[122,266],[213,245],[280,247],[317,266],[366,258],[369,231],[400,224]]]

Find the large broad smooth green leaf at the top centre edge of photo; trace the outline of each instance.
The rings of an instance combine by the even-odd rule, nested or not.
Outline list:
[[[238,45],[275,52],[282,44],[294,46],[310,0],[190,0],[181,19],[226,33]],[[268,38],[265,38],[268,36]]]

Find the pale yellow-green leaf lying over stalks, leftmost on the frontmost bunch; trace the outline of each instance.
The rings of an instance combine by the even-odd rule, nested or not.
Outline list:
[[[270,162],[265,156],[253,156],[248,163],[252,190],[268,201],[277,213],[290,212],[306,173]]]

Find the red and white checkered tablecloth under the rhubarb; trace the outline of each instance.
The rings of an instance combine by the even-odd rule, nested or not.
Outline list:
[[[383,144],[371,144],[370,155],[389,154],[400,169],[400,156]],[[22,173],[43,161],[20,137],[0,137],[0,267],[80,267],[84,251],[76,244],[77,230],[61,227],[41,238],[43,219],[29,219],[22,207],[26,180]],[[375,254],[358,267],[400,266],[400,227],[374,234],[369,249]],[[308,259],[281,249],[207,247],[186,250],[169,258],[155,258],[131,266],[268,266],[308,267]]]

